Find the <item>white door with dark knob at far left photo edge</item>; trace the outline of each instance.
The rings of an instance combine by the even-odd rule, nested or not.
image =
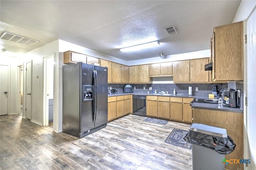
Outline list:
[[[0,115],[8,114],[8,66],[0,65]]]

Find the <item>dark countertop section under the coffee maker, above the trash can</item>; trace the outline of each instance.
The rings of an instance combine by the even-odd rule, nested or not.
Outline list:
[[[232,107],[222,107],[218,108],[218,104],[213,103],[196,103],[194,102],[191,106],[195,109],[206,109],[206,110],[215,110],[215,111],[226,111],[226,112],[235,112],[235,113],[244,113],[244,109],[232,108]]]

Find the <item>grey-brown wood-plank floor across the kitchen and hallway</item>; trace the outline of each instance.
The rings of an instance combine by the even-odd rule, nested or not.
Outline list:
[[[128,115],[84,138],[52,131],[16,115],[0,117],[0,168],[86,170],[190,170],[192,152],[165,143],[173,128]]]

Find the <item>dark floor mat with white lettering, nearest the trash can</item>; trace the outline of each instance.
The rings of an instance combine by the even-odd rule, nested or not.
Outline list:
[[[191,149],[192,145],[183,139],[187,133],[188,130],[174,128],[164,142],[180,146],[182,148]]]

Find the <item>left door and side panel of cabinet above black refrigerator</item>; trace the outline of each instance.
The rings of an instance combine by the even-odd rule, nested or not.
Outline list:
[[[74,51],[66,51],[63,53],[63,64],[72,64],[78,62],[86,63],[86,55]]]

